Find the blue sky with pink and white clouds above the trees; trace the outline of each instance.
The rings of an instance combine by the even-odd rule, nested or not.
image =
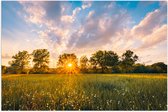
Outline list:
[[[2,65],[22,50],[48,49],[50,67],[62,53],[89,58],[97,50],[138,62],[167,64],[165,1],[2,1]]]

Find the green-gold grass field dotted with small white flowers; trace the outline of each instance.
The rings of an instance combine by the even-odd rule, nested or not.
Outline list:
[[[167,110],[166,76],[2,75],[2,110]]]

